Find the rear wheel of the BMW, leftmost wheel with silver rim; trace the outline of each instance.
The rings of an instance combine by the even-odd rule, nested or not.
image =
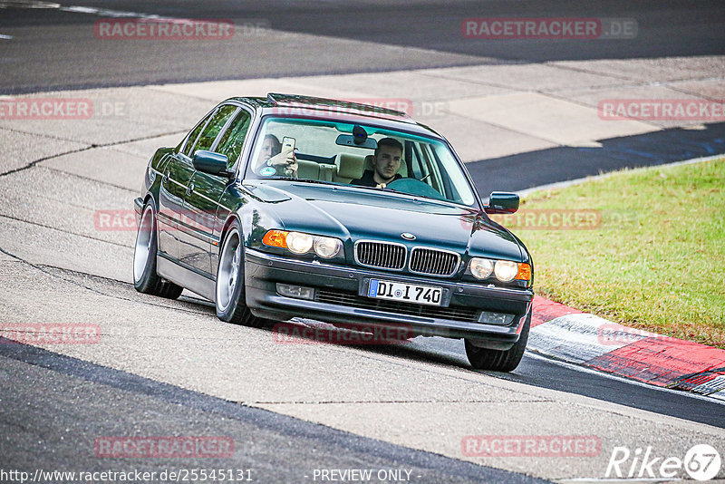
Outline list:
[[[156,273],[157,239],[156,214],[150,203],[143,207],[136,244],[133,248],[133,286],[144,294],[176,299],[183,287],[163,279]]]

